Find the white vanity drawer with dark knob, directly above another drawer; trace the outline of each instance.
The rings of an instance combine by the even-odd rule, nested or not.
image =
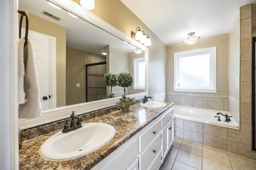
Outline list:
[[[156,123],[154,123],[153,125],[151,125],[150,127],[148,127],[148,129],[146,129],[146,131],[144,133],[142,133],[141,135],[139,135],[139,150],[143,150],[148,143],[150,143],[150,141],[152,141],[152,139],[154,137],[156,137],[156,135],[160,132],[162,128],[162,122],[161,119],[159,119],[158,121],[156,121]]]

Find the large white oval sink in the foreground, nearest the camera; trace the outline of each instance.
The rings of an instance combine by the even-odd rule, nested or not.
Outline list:
[[[115,135],[115,128],[106,123],[84,123],[83,127],[52,135],[40,147],[40,155],[48,160],[68,160],[99,149]]]

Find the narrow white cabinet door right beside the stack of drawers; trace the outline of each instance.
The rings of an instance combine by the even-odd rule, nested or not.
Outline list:
[[[169,150],[169,123],[162,128],[162,162]]]

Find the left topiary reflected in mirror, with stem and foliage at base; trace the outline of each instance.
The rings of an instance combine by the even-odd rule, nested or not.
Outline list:
[[[103,80],[106,86],[110,87],[110,94],[108,96],[103,97],[103,99],[115,98],[116,96],[114,95],[114,93],[112,93],[112,87],[117,86],[117,74],[108,72],[104,75]]]

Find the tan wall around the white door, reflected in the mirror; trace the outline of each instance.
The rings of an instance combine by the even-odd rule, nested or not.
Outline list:
[[[28,16],[30,30],[56,37],[57,107],[66,106],[66,28],[30,13]]]

